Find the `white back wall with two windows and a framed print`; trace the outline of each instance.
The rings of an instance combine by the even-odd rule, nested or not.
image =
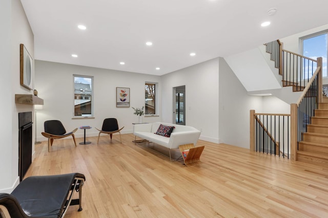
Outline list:
[[[93,76],[94,119],[73,118],[74,86],[73,74]],[[63,122],[67,131],[81,125],[90,125],[86,130],[87,137],[98,136],[105,118],[115,117],[119,126],[125,126],[121,133],[132,133],[132,123],[138,122],[131,107],[145,105],[145,82],[158,82],[156,89],[158,115],[161,114],[161,81],[159,76],[137,74],[124,71],[83,67],[72,64],[35,61],[35,89],[38,97],[44,99],[43,110],[37,111],[37,140],[47,140],[41,135],[44,132],[44,121],[56,119]],[[116,87],[130,88],[130,107],[116,107]],[[160,116],[144,117],[144,122],[160,121]],[[84,135],[78,129],[75,136]],[[115,136],[114,136],[115,137]]]

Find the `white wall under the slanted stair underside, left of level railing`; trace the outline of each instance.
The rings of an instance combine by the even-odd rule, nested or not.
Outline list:
[[[250,110],[262,110],[262,97],[250,96],[228,63],[219,58],[220,142],[250,148]]]

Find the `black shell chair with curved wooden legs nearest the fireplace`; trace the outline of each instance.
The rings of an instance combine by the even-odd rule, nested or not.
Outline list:
[[[76,141],[74,133],[77,128],[75,128],[72,132],[66,133],[66,129],[59,120],[47,120],[45,121],[45,132],[41,133],[44,137],[48,138],[48,152],[50,151],[50,146],[52,146],[54,139],[62,139],[68,136],[72,136],[74,140],[74,144],[76,147]]]

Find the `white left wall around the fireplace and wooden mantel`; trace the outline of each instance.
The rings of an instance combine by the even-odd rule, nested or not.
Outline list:
[[[0,127],[0,192],[11,192],[18,184],[18,112],[32,111],[32,106],[16,105],[15,94],[30,94],[19,83],[19,44],[24,43],[34,57],[34,36],[19,0],[4,0],[0,8],[2,49],[0,59],[4,98]],[[6,97],[7,96],[7,97]],[[33,141],[34,142],[34,141]],[[34,143],[33,143],[34,144]],[[34,151],[34,146],[33,146]]]

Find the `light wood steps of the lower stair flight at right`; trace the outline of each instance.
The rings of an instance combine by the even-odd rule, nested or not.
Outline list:
[[[297,160],[328,164],[328,103],[319,103],[303,141],[298,142]]]

